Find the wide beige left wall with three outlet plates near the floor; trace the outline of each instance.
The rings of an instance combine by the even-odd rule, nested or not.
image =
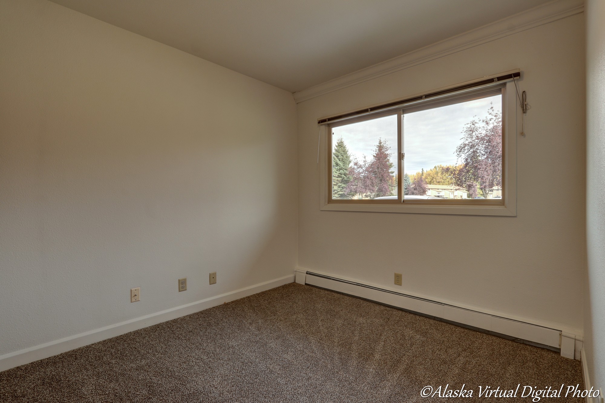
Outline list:
[[[45,1],[0,55],[0,355],[293,274],[292,94]]]

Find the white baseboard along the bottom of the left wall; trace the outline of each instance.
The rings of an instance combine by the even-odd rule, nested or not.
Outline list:
[[[265,281],[264,283],[217,295],[216,297],[206,298],[205,300],[163,310],[162,312],[152,313],[151,315],[141,316],[140,318],[131,319],[122,323],[90,330],[90,332],[80,333],[78,335],[40,344],[39,346],[8,353],[0,356],[0,372],[13,367],[18,367],[19,365],[28,364],[28,362],[38,361],[42,358],[48,358],[69,350],[77,349],[78,347],[87,346],[88,344],[97,341],[143,329],[143,327],[180,318],[181,316],[199,312],[200,310],[283,286],[284,284],[292,283],[294,278],[295,276],[293,274],[287,275],[277,278],[276,280]]]

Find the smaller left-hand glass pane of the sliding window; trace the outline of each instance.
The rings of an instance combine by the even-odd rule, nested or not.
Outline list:
[[[397,198],[397,115],[332,128],[332,198]]]

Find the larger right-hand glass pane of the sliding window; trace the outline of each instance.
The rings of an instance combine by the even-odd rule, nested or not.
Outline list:
[[[404,201],[502,198],[502,94],[404,114]]]

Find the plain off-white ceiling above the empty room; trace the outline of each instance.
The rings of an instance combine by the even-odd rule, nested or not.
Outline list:
[[[546,0],[52,0],[291,92]]]

